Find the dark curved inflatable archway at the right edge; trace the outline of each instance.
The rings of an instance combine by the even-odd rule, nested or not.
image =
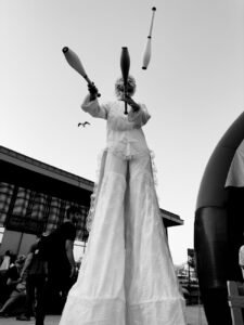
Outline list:
[[[237,249],[243,240],[244,213],[240,213],[239,207],[244,204],[237,205],[237,190],[226,188],[224,184],[243,139],[244,113],[227,130],[211,154],[196,202],[194,248],[200,290],[209,325],[232,324],[227,280],[242,278]]]

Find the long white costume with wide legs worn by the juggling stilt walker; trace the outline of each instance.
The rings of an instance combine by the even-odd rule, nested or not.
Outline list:
[[[107,120],[107,147],[92,196],[92,219],[78,280],[60,325],[184,325],[179,289],[141,127],[144,105],[124,115],[124,102],[82,109]]]

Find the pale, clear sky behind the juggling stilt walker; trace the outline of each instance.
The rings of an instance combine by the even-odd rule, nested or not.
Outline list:
[[[172,260],[187,261],[205,166],[244,107],[244,1],[0,0],[0,145],[91,181],[106,126],[80,109],[87,84],[62,49],[78,54],[106,102],[128,48],[134,100],[152,115],[143,129],[159,205],[184,221],[168,231]]]

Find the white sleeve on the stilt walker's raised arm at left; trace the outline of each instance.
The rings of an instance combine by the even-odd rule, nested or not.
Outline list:
[[[81,108],[84,109],[84,112],[89,113],[93,117],[104,119],[107,119],[107,114],[110,109],[107,104],[100,105],[98,99],[95,99],[94,101],[90,101],[90,94],[88,94],[85,98],[81,104]]]

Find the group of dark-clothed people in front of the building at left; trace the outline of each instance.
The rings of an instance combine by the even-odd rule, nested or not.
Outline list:
[[[51,234],[38,235],[26,256],[8,250],[0,263],[0,317],[44,324],[47,313],[61,313],[76,281],[74,240],[79,210],[70,207]]]

